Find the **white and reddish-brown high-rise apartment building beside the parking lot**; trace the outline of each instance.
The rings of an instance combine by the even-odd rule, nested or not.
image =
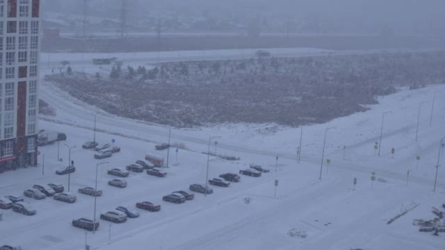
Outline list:
[[[0,0],[0,172],[37,164],[40,0]]]

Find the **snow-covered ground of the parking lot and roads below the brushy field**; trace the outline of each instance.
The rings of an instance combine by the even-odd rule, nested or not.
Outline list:
[[[90,59],[79,59],[79,67],[94,72],[93,67],[98,66],[87,61]],[[49,73],[50,68],[50,64],[42,65],[41,75]],[[68,147],[76,146],[71,151],[76,172],[71,174],[70,191],[77,195],[77,201],[68,204],[50,198],[25,198],[37,210],[34,216],[3,210],[0,246],[20,245],[24,250],[85,249],[86,244],[90,249],[110,250],[444,249],[444,233],[435,236],[419,232],[419,226],[412,222],[433,219],[432,207],[441,209],[445,203],[445,156],[440,144],[445,137],[445,85],[379,97],[379,104],[369,106],[364,113],[304,126],[302,133],[301,128],[275,124],[172,128],[170,144],[184,144],[186,149],[171,148],[169,153],[154,149],[156,144],[168,141],[168,127],[110,115],[44,81],[39,91],[57,114],[40,115],[39,128],[66,133],[67,140],[40,147],[38,167],[0,174],[0,196],[22,195],[23,190],[38,183],[60,183],[67,190],[68,176],[58,176],[55,171],[68,165]],[[111,158],[95,160],[93,151],[81,148],[84,142],[93,140],[95,117],[97,142],[114,140],[114,145],[122,149]],[[326,128],[330,129],[322,160]],[[381,128],[378,156],[375,143],[380,142]],[[219,138],[213,138],[209,148],[209,138],[216,136]],[[252,163],[270,172],[259,178],[241,176],[241,182],[229,188],[211,186],[213,194],[195,193],[195,199],[183,204],[162,201],[164,195],[188,190],[193,183],[205,184],[207,154],[203,152],[208,150],[240,158],[229,161],[211,156],[209,178],[237,173]],[[163,169],[168,173],[165,178],[131,173],[125,178],[127,188],[107,184],[114,178],[106,173],[108,169],[124,168],[147,153],[165,160],[169,156],[169,165]],[[433,192],[438,156],[442,158]],[[94,197],[76,191],[95,186],[97,163],[102,162],[106,163],[99,166],[97,184],[103,190],[102,197],[97,198],[100,227],[91,233],[72,226],[72,219],[92,219],[94,215]],[[375,181],[371,181],[373,173]],[[139,210],[135,208],[138,201],[160,204],[161,211]],[[138,210],[140,217],[123,224],[99,219],[100,213],[117,206]]]

